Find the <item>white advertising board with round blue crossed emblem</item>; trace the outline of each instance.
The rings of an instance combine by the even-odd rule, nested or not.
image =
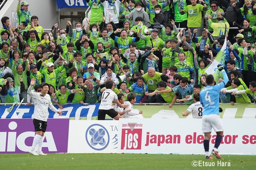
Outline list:
[[[118,121],[69,121],[67,153],[117,153]]]

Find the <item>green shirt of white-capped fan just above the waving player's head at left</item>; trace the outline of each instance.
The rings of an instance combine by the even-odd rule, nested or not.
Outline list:
[[[51,73],[46,69],[40,68],[40,73],[42,73],[45,83],[51,84],[53,87],[56,87],[56,74],[60,73],[64,69],[64,65],[61,67],[54,69]]]

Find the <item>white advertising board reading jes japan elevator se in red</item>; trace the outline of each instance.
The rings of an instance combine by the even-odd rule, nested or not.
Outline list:
[[[221,119],[220,154],[256,154],[256,119]],[[119,153],[204,154],[202,119],[120,119]],[[216,133],[210,138],[213,149]]]

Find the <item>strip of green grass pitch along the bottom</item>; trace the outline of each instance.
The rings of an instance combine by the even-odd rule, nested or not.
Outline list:
[[[204,155],[56,153],[47,156],[34,156],[30,154],[0,154],[0,170],[255,169],[256,155],[221,156],[221,160],[217,160],[215,157],[213,157],[214,160],[206,160]],[[193,161],[199,162],[201,166],[193,167]],[[195,165],[197,164],[195,163]],[[209,167],[210,165],[211,167]]]

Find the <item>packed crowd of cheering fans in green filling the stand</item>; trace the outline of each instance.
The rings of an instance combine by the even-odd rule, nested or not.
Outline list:
[[[124,101],[134,93],[140,105],[192,104],[226,36],[230,83],[220,102],[255,102],[255,0],[86,0],[86,27],[76,22],[73,30],[67,21],[65,29],[54,24],[50,33],[30,14],[28,2],[18,1],[19,26],[11,26],[8,16],[1,19],[2,102],[33,103],[27,90],[34,78],[35,92],[49,83],[52,102],[61,109],[99,102],[107,81]]]

